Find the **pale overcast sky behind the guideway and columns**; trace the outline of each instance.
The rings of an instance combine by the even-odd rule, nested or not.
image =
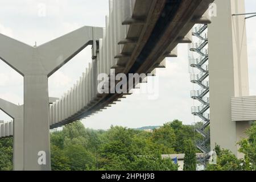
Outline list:
[[[256,12],[256,1],[245,0],[246,12]],[[0,33],[31,46],[46,43],[82,26],[105,27],[107,0],[0,0]],[[247,20],[250,95],[256,95],[256,18]],[[49,96],[61,97],[70,89],[91,60],[90,47],[49,77]],[[191,124],[200,121],[191,114],[188,46],[179,45],[178,57],[167,59],[158,69],[159,97],[132,94],[117,105],[83,119],[85,127],[109,129],[111,125],[137,128],[159,126],[174,119]],[[141,85],[146,86],[144,84]],[[0,98],[23,104],[23,77],[0,60]],[[11,118],[0,111],[0,120]]]

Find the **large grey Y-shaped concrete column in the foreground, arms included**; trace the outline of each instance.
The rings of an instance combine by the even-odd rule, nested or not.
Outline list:
[[[48,77],[100,38],[102,28],[85,26],[31,47],[0,34],[0,58],[24,77],[24,170],[51,169]]]

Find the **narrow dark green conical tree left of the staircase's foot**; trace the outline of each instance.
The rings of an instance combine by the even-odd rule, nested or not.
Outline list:
[[[191,140],[185,141],[184,171],[196,171],[196,148]]]

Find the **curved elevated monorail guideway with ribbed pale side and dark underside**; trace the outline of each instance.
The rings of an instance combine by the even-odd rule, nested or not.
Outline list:
[[[89,117],[125,97],[98,94],[98,73],[110,75],[110,69],[115,69],[126,75],[154,75],[156,68],[165,67],[165,57],[177,56],[177,44],[191,43],[193,25],[209,22],[208,14],[202,15],[210,2],[110,1],[96,56],[77,84],[50,108],[51,128]]]

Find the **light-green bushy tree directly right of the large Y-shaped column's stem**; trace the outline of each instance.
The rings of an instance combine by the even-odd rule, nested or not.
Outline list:
[[[90,136],[81,122],[73,122],[63,131],[51,134],[51,161],[53,170],[92,170],[96,168],[94,151],[90,151]]]

